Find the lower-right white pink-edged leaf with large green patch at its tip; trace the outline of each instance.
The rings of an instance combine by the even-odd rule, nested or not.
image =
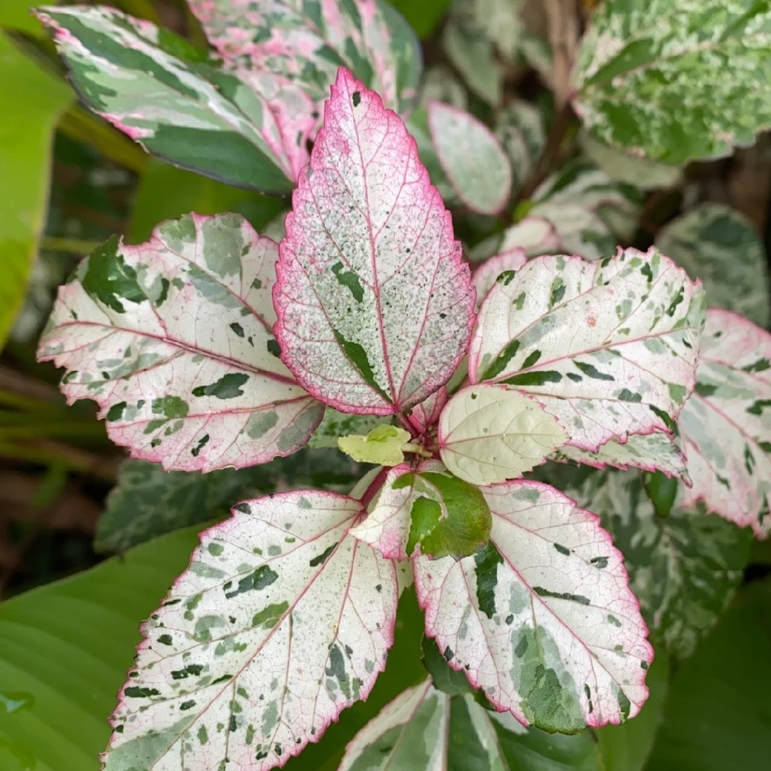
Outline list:
[[[426,634],[524,725],[575,732],[636,715],[653,651],[599,518],[540,483],[482,492],[490,544],[460,561],[414,563]]]

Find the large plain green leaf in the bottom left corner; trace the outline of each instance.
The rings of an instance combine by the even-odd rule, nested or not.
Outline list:
[[[0,604],[0,768],[96,771],[139,625],[190,559],[195,530]]]

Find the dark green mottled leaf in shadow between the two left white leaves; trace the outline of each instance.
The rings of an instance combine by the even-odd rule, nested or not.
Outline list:
[[[163,471],[159,463],[127,460],[96,524],[94,547],[123,552],[180,527],[227,516],[237,500],[289,487],[323,485],[347,493],[358,467],[340,453],[301,449],[291,458],[248,469]]]

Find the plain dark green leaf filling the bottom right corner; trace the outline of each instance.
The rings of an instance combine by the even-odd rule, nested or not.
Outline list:
[[[648,771],[766,771],[771,583],[750,585],[672,680]]]

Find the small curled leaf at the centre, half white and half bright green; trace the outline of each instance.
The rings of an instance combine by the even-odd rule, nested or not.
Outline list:
[[[490,507],[479,489],[435,460],[389,471],[369,515],[351,534],[383,557],[465,557],[490,537]]]

